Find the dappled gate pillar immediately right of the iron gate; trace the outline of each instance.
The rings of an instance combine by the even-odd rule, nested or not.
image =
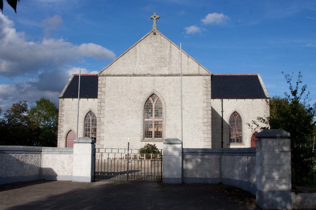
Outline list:
[[[167,184],[182,183],[182,142],[178,138],[163,140],[162,182]]]

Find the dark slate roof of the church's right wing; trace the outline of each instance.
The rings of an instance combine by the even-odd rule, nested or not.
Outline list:
[[[269,98],[257,74],[212,74],[212,98]]]

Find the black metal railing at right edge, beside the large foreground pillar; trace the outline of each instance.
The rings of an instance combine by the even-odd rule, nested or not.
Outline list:
[[[292,186],[316,184],[316,149],[313,145],[294,145],[291,149]]]

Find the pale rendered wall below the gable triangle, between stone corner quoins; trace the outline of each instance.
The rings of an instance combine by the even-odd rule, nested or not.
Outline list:
[[[162,149],[162,140],[145,142],[143,139],[144,102],[151,93],[160,96],[164,106],[163,139],[181,139],[179,76],[108,76],[105,81],[104,125],[100,126],[104,129],[104,141],[101,143],[104,148],[126,148],[127,137],[130,137],[131,148],[156,143]],[[184,147],[203,148],[203,117],[207,114],[203,110],[206,104],[204,77],[184,76],[182,81]]]

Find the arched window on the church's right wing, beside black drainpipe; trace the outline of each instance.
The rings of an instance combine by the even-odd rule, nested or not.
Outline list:
[[[242,143],[242,121],[237,112],[229,118],[229,143]]]

